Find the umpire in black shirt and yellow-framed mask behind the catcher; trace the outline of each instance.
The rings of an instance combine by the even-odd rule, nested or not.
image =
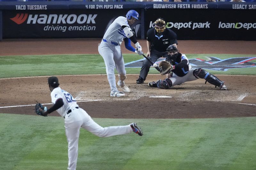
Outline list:
[[[147,32],[147,57],[155,63],[160,57],[165,57],[166,48],[169,45],[177,47],[177,35],[169,28],[166,28],[166,24],[163,18],[157,18],[153,23],[154,28],[150,28]],[[142,63],[140,70],[140,77],[136,80],[137,84],[143,84],[148,75],[151,63],[145,60]]]

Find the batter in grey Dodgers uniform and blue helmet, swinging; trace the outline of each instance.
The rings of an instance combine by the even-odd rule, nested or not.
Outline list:
[[[128,86],[125,85],[124,79],[126,78],[126,71],[124,67],[124,58],[121,52],[121,43],[124,41],[125,48],[139,55],[142,55],[142,49],[139,42],[136,40],[135,34],[132,32],[130,25],[132,25],[139,18],[139,13],[134,10],[130,10],[125,17],[116,18],[112,24],[108,27],[103,39],[99,45],[98,51],[103,57],[106,72],[108,76],[108,83],[110,85],[111,97],[123,97],[124,92],[130,92]],[[135,50],[131,46],[131,41],[135,44],[138,50]],[[117,85],[123,88],[124,92],[119,92],[116,88],[115,66],[118,72]]]

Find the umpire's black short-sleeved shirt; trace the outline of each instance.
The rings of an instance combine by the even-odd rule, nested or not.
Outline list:
[[[177,35],[169,28],[165,28],[163,34],[158,37],[155,28],[150,28],[147,32],[147,41],[151,42],[151,49],[165,52],[166,48],[172,44],[178,44]]]

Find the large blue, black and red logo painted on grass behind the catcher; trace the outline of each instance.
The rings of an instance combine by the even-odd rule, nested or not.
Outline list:
[[[256,63],[253,63],[252,60],[256,60],[256,57],[236,57],[236,58],[228,58],[228,59],[220,59],[217,57],[207,57],[207,60],[203,60],[200,58],[188,59],[189,64],[193,69],[209,69],[209,70],[219,70],[219,71],[227,71],[228,69],[240,69],[240,68],[250,68],[256,67]],[[126,63],[126,68],[136,68],[141,67],[143,61],[146,59],[137,60],[134,62]],[[158,64],[161,61],[164,61],[165,58],[159,58],[156,61]]]

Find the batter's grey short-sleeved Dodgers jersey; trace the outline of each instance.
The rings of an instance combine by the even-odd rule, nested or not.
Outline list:
[[[110,40],[121,45],[123,39],[126,37],[122,26],[128,26],[130,28],[125,17],[117,17],[108,27],[103,39]]]

